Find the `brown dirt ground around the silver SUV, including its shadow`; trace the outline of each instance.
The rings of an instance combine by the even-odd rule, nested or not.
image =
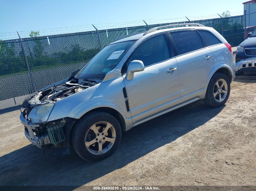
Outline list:
[[[234,81],[226,105],[203,101],[124,132],[97,163],[30,144],[19,110],[0,114],[0,185],[256,185],[256,81]]]

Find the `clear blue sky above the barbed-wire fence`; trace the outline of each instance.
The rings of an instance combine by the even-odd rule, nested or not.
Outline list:
[[[185,21],[185,16],[190,20],[217,18],[217,13],[226,10],[239,15],[245,1],[0,0],[0,39],[17,38],[16,33],[9,33],[15,31],[25,31],[20,34],[28,37],[31,30],[49,35],[94,30],[91,24],[107,29],[143,25],[143,19],[154,24]]]

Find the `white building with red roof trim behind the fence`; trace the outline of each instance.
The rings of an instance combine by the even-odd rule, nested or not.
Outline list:
[[[244,2],[246,10],[246,27],[256,26],[256,0]]]

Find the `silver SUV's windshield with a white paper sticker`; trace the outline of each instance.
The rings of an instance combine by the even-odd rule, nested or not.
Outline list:
[[[115,68],[135,41],[124,41],[106,46],[81,68],[75,78],[84,80],[103,79],[107,72]]]

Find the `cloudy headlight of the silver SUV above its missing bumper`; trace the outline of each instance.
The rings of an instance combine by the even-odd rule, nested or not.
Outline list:
[[[54,103],[47,103],[38,107],[34,107],[29,113],[28,118],[32,123],[45,122],[47,121],[53,107]]]

